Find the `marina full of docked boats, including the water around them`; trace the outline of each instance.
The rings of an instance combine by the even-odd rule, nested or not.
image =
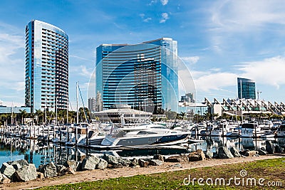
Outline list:
[[[0,131],[0,164],[26,159],[38,167],[50,162],[79,162],[88,155],[103,157],[110,154],[128,159],[152,157],[155,154],[167,157],[197,149],[217,152],[219,147],[235,147],[239,151],[257,150],[266,147],[266,140],[281,147],[285,144],[285,138],[281,135],[284,132],[283,124],[278,127],[271,125],[266,130],[266,127],[262,129],[258,124],[230,125],[225,121],[196,125],[189,122],[187,126],[180,122],[171,129],[165,126],[154,123],[125,127],[111,123],[6,126]]]

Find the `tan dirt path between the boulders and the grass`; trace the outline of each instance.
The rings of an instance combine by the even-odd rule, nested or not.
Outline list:
[[[121,169],[95,169],[91,171],[78,171],[75,175],[60,176],[52,179],[37,179],[35,181],[21,182],[21,183],[11,183],[4,184],[0,186],[0,189],[34,189],[41,186],[53,186],[58,184],[70,184],[78,183],[82,181],[96,181],[101,179],[110,179],[120,176],[135,176],[140,174],[154,174],[165,171],[177,171],[182,169],[192,169],[197,167],[212,167],[222,164],[232,164],[240,162],[252,162],[261,159],[274,159],[281,158],[285,155],[266,155],[261,157],[245,157],[245,158],[233,158],[233,159],[207,159],[198,162],[187,162],[180,163],[181,167],[177,167],[178,163],[165,162],[159,167],[136,167],[130,168],[125,167]],[[176,165],[175,165],[176,164]]]

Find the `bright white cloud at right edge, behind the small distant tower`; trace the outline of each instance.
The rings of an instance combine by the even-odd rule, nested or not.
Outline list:
[[[285,85],[285,58],[276,56],[264,60],[247,62],[239,66],[242,77],[256,80],[259,84],[273,85],[279,89]]]

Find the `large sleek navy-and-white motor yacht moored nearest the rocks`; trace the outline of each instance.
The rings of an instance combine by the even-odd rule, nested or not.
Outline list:
[[[182,144],[188,141],[190,132],[170,130],[162,125],[145,124],[116,128],[101,142],[111,147],[152,147]]]

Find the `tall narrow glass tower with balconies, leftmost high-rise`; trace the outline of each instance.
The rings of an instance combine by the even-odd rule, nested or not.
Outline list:
[[[68,36],[36,20],[26,26],[25,105],[31,112],[68,107]]]

